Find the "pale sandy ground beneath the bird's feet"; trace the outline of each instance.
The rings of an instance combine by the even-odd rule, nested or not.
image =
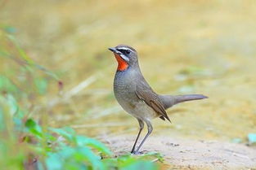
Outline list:
[[[123,155],[131,150],[133,140],[119,136],[107,143],[116,155]],[[243,144],[154,136],[141,151],[164,155],[167,169],[256,169],[256,148]]]

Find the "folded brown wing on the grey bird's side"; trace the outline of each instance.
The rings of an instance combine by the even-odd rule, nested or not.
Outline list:
[[[152,89],[147,89],[147,88],[143,89],[140,86],[137,86],[135,92],[138,98],[146,102],[148,106],[150,106],[152,109],[154,109],[154,111],[156,111],[161,115],[160,118],[162,120],[164,120],[165,118],[169,120],[169,122],[171,122],[171,120],[168,118],[166,111],[164,110],[164,106],[162,102],[160,102],[157,94],[155,94],[152,91]]]

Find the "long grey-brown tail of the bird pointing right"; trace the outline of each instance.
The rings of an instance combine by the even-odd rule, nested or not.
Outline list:
[[[164,108],[168,109],[169,107],[172,107],[173,105],[180,103],[180,102],[187,102],[191,100],[200,100],[204,98],[208,98],[207,96],[204,96],[202,94],[185,94],[185,95],[159,95],[160,100],[164,104]]]

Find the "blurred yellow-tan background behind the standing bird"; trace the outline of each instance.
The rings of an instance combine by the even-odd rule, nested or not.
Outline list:
[[[17,54],[8,33],[51,72],[39,68],[31,83],[15,64],[23,58],[0,58],[0,71],[22,81],[21,91],[39,91],[15,94],[35,119],[47,115],[53,127],[68,125],[104,142],[106,135],[137,133],[137,120],[115,101],[117,63],[107,50],[128,44],[156,92],[209,96],[169,109],[173,124],[154,120],[154,135],[246,142],[256,133],[255,18],[253,0],[2,0],[1,48]]]

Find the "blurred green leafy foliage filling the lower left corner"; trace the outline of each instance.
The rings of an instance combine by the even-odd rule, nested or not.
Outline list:
[[[39,170],[105,170],[157,169],[150,162],[152,155],[115,155],[101,142],[76,134],[69,127],[51,128],[47,124],[46,109],[38,99],[47,94],[48,85],[57,76],[38,65],[25,53],[10,33],[15,28],[0,31],[3,45],[0,56],[15,65],[0,75],[0,167],[5,169]],[[11,72],[10,72],[11,68]],[[42,72],[43,71],[43,72]],[[47,107],[47,106],[46,106]],[[36,115],[34,116],[34,112]],[[153,157],[158,157],[153,155]]]

